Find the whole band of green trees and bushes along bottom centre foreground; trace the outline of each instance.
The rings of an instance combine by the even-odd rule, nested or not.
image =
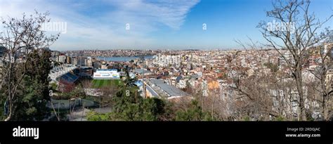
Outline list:
[[[112,97],[112,112],[98,114],[90,112],[88,120],[107,121],[201,121],[212,120],[208,112],[204,112],[197,100],[193,100],[188,107],[174,109],[174,103],[159,98],[143,98],[138,96],[138,88],[133,85],[135,79],[126,72],[124,86]]]

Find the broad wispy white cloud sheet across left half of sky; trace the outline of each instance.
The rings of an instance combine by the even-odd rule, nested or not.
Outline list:
[[[190,9],[199,0],[97,0],[43,1],[0,0],[0,17],[21,17],[22,13],[49,11],[52,21],[67,22],[67,33],[53,45],[58,50],[69,48],[144,48],[152,46],[150,32],[161,25],[181,29]],[[93,3],[93,4],[91,4]],[[107,8],[98,10],[98,6]],[[110,8],[108,8],[110,7]],[[97,11],[98,15],[90,15]],[[100,12],[99,12],[100,11]],[[131,30],[125,30],[129,23]]]

